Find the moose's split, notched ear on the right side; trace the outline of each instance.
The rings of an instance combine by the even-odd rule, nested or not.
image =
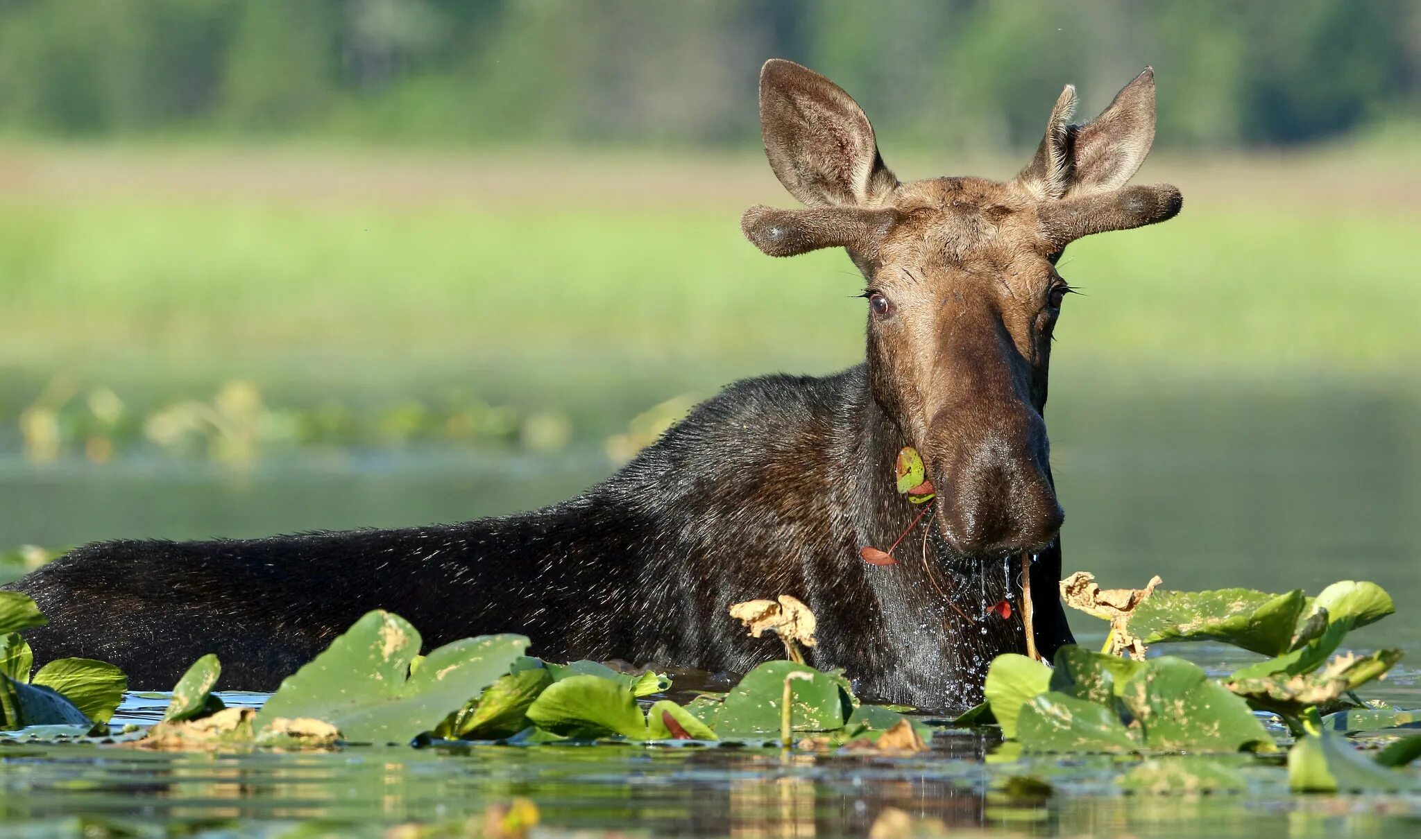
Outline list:
[[[1066,85],[1036,158],[1017,177],[1042,200],[1113,192],[1140,170],[1154,143],[1154,70],[1147,67],[1086,125],[1069,125],[1074,109],[1076,88]]]

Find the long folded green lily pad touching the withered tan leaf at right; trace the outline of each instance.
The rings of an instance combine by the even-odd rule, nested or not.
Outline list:
[[[1147,645],[1221,640],[1276,656],[1292,643],[1304,606],[1302,591],[1286,595],[1252,589],[1161,591],[1135,606],[1125,626]]]

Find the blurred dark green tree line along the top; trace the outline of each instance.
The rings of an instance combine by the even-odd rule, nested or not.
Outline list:
[[[1421,112],[1417,0],[0,0],[0,132],[747,145],[772,55],[935,148],[1032,145],[1145,64],[1171,145]]]

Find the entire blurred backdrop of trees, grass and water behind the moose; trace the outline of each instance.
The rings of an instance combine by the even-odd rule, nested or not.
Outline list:
[[[1154,65],[1138,179],[1184,213],[1061,264],[1067,571],[1421,595],[1401,0],[0,3],[0,544],[533,507],[855,363],[848,260],[739,234],[793,206],[776,55],[905,179],[1009,177],[1063,84],[1086,118]]]

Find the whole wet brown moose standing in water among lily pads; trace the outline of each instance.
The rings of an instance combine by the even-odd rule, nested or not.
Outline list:
[[[1127,186],[1154,97],[1145,70],[1077,125],[1067,85],[1016,177],[904,183],[848,94],[766,62],[764,150],[804,207],[753,207],[742,230],[776,257],[847,250],[867,283],[864,363],[733,383],[603,483],[531,512],[77,548],[9,586],[50,619],[27,633],[37,660],[102,659],[135,689],[168,689],[217,653],[225,687],[271,690],[388,609],[426,646],[519,632],[549,660],[746,671],[780,645],[747,637],[728,608],[784,593],[818,618],[810,663],[843,667],[861,694],[976,701],[992,657],[1026,650],[1022,610],[993,608],[1023,583],[1049,595],[1036,649],[1071,642],[1043,420],[1071,291],[1056,265],[1076,238],[1179,212],[1174,186]],[[904,447],[935,490],[926,507],[897,491]],[[888,561],[861,558],[895,541]]]

